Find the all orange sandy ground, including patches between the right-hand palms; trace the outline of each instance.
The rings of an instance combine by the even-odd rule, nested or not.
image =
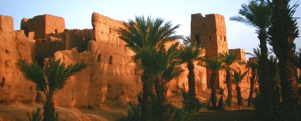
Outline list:
[[[233,93],[234,94],[234,93]],[[198,94],[197,96],[201,101],[206,101],[210,96],[210,90],[205,90]],[[236,106],[236,94],[233,95],[233,105],[231,108],[226,108],[226,110],[241,110],[248,109],[254,110],[253,108],[247,108],[247,98],[248,92],[243,92],[243,106]],[[219,98],[219,97],[218,97]],[[225,99],[226,97],[224,97]],[[182,107],[182,97],[181,96],[172,96],[171,102],[177,107]],[[11,103],[0,103],[0,121],[27,121],[29,120],[26,114],[26,111],[31,112],[36,108],[43,108],[41,103],[21,103],[21,102],[11,102]],[[60,113],[60,119],[66,120],[81,120],[81,121],[90,121],[90,120],[118,120],[120,118],[125,118],[127,116],[127,110],[129,106],[125,108],[118,107],[109,107],[106,105],[95,106],[89,108],[72,108],[72,107],[61,107],[56,106],[56,111]],[[43,112],[43,111],[41,111]],[[206,108],[199,110],[199,112],[211,112]]]

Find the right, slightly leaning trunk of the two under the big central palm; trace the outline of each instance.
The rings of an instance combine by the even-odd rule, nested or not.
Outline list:
[[[172,115],[170,112],[169,102],[167,100],[167,81],[162,77],[159,77],[155,80],[155,90],[157,93],[157,98],[159,102],[159,117],[161,121],[170,121],[172,120]]]

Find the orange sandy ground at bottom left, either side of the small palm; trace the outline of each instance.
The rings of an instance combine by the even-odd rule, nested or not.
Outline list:
[[[36,108],[42,108],[43,105],[40,103],[2,103],[0,104],[0,121],[28,121],[26,111],[30,114]],[[92,107],[89,109],[85,108],[72,108],[72,107],[61,107],[56,106],[56,111],[60,113],[60,119],[66,120],[117,120],[127,115],[127,108],[109,108],[109,107]],[[42,111],[43,112],[43,111]]]

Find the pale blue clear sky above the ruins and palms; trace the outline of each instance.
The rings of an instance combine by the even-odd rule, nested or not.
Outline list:
[[[298,0],[292,0],[291,4],[297,2],[300,3]],[[252,52],[252,48],[258,47],[259,44],[255,28],[229,21],[229,17],[238,15],[241,4],[247,3],[248,0],[0,0],[0,15],[14,17],[15,30],[20,30],[20,22],[23,18],[30,19],[44,14],[63,17],[66,29],[91,29],[93,12],[119,21],[128,21],[134,16],[144,15],[160,17],[172,21],[174,25],[180,24],[177,34],[188,36],[191,14],[202,13],[203,16],[220,14],[226,20],[228,48],[242,48],[245,52]],[[297,8],[294,16],[301,18],[301,6]],[[297,21],[300,26],[300,19]],[[297,48],[301,48],[300,41],[301,38],[295,40]]]

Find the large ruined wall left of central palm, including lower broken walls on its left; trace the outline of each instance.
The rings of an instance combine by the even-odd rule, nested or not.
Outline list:
[[[135,65],[130,63],[134,53],[125,47],[125,43],[113,31],[122,27],[121,22],[93,13],[92,25],[93,30],[64,32],[67,50],[57,51],[55,56],[63,58],[68,64],[86,62],[88,67],[73,76],[66,87],[59,91],[56,104],[120,107],[129,101],[136,101],[141,84]],[[86,47],[81,44],[86,44]],[[77,47],[78,51],[73,47]],[[83,52],[80,53],[79,49]]]

